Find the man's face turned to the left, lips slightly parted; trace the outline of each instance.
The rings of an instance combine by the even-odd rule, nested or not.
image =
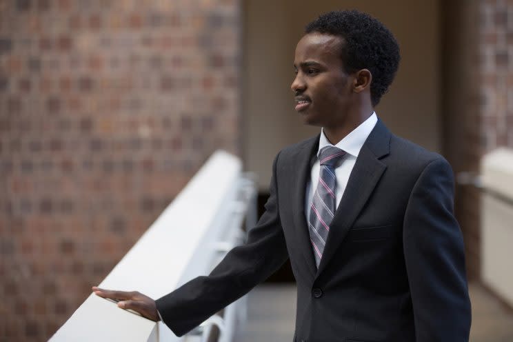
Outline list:
[[[309,125],[325,128],[344,124],[350,107],[352,77],[341,60],[341,37],[312,32],[297,43],[290,88],[296,110]]]

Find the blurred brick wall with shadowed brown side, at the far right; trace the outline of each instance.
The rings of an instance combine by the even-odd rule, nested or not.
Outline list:
[[[454,172],[479,174],[483,154],[513,148],[513,1],[443,4],[444,154]],[[481,191],[456,186],[467,268],[479,279]]]

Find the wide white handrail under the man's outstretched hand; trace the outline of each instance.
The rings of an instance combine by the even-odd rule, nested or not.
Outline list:
[[[251,202],[248,184],[237,157],[214,153],[99,286],[137,290],[157,299],[210,272],[225,248],[241,240],[239,228]],[[227,335],[233,329],[229,323],[224,328]],[[92,294],[50,341],[183,340],[163,323]]]

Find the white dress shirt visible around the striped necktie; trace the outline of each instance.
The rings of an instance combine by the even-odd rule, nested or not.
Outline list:
[[[345,156],[342,158],[341,163],[335,168],[335,176],[336,176],[336,188],[335,188],[335,209],[339,207],[340,200],[342,199],[342,195],[344,194],[345,187],[348,185],[349,176],[351,174],[352,168],[354,167],[354,163],[356,163],[356,158],[360,153],[361,147],[365,140],[369,137],[370,132],[378,122],[378,117],[376,116],[376,112],[373,112],[372,115],[363,123],[361,123],[358,127],[354,128],[352,132],[344,137],[339,143],[335,145],[335,147],[340,148],[346,152]],[[328,138],[324,135],[324,131],[321,130],[321,139],[319,139],[319,150],[317,151],[317,160],[312,166],[312,174],[310,176],[310,181],[306,184],[306,196],[305,196],[305,214],[306,221],[308,222],[308,218],[310,217],[310,203],[312,203],[312,197],[314,196],[315,189],[317,188],[317,183],[319,182],[319,169],[321,165],[319,163],[319,152],[321,148],[325,146],[332,146],[333,144],[328,141]],[[314,186],[312,186],[314,185]]]

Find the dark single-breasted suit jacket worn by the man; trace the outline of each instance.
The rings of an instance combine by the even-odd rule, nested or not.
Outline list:
[[[157,300],[178,335],[264,281],[288,258],[297,282],[295,341],[463,342],[470,299],[450,165],[378,121],[330,225],[319,269],[305,184],[319,137],[274,160],[265,213],[209,276]]]

